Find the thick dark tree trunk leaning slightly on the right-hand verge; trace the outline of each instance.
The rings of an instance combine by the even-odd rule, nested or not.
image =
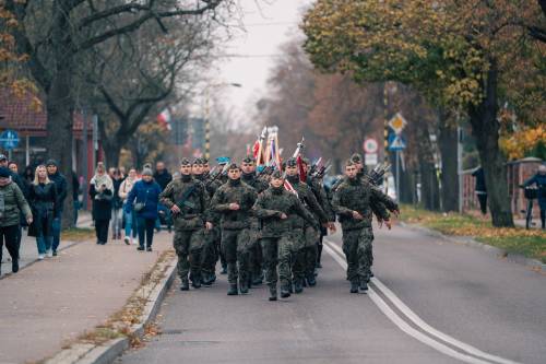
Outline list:
[[[499,148],[499,122],[497,120],[498,70],[491,61],[484,84],[485,97],[468,108],[472,132],[476,138],[482,166],[484,167],[488,204],[494,226],[513,227],[513,216],[508,195],[506,161]]]

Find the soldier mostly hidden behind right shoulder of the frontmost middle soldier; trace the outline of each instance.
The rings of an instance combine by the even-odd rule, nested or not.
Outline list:
[[[294,260],[294,292],[301,293],[304,291],[304,280],[307,280],[309,285],[314,285],[314,266],[317,262],[317,242],[319,240],[319,230],[322,224],[333,223],[329,221],[311,188],[300,181],[296,158],[292,157],[286,161],[286,179],[296,190],[299,200],[311,212],[318,223],[306,223],[301,218],[295,218],[294,222],[294,243],[297,244],[298,253]]]

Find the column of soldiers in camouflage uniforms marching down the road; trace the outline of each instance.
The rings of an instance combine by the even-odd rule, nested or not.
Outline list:
[[[309,169],[309,161],[302,160]],[[347,161],[345,177],[330,191],[320,176],[302,181],[296,158],[271,175],[257,174],[256,161],[221,165],[212,174],[209,162],[185,158],[180,178],[173,180],[161,201],[174,216],[174,247],[178,256],[180,290],[210,286],[216,263],[227,273],[228,295],[247,294],[265,283],[270,301],[301,293],[317,284],[322,237],[335,231],[335,215],[343,231],[351,292],[367,290],[372,265],[371,219],[390,228],[389,211],[399,208],[365,178],[361,157]],[[288,187],[288,188],[287,188]],[[287,190],[289,189],[289,190]]]

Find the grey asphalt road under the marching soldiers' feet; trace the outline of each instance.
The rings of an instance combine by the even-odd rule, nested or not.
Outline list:
[[[351,294],[340,246],[316,287],[276,303],[227,296],[225,275],[175,286],[163,333],[118,363],[546,363],[546,277],[395,227],[377,233],[369,293]]]

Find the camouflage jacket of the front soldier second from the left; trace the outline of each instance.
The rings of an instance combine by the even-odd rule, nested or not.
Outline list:
[[[250,227],[251,209],[257,197],[256,190],[240,179],[228,180],[214,193],[211,209],[222,215],[222,228],[248,228]],[[229,203],[238,203],[240,209],[229,210]]]

